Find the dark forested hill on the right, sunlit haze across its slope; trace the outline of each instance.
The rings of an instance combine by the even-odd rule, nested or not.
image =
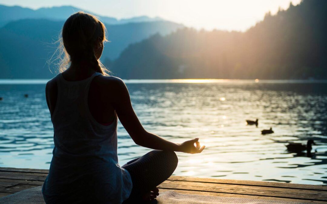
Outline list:
[[[327,1],[304,0],[246,32],[180,29],[129,45],[121,78],[327,79]]]

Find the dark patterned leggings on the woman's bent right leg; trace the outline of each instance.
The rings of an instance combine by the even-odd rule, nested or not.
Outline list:
[[[168,179],[178,163],[173,151],[152,150],[123,165],[132,179],[132,192],[124,203],[139,200],[142,195]]]

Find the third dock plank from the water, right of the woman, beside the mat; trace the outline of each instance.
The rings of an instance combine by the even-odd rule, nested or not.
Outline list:
[[[202,191],[188,191],[188,190],[171,190],[159,188],[159,193],[165,191],[175,191],[181,194],[191,194],[191,195],[203,195],[203,196],[219,196],[219,197],[242,197],[242,198],[252,198],[252,199],[267,199],[267,200],[282,200],[282,201],[293,201],[293,202],[306,202],[306,203],[325,203],[325,201],[315,201],[315,200],[304,200],[304,199],[293,199],[293,198],[279,198],[279,197],[269,197],[269,196],[250,196],[250,195],[238,195],[238,194],[225,194],[225,193],[213,193],[213,192],[202,192]]]

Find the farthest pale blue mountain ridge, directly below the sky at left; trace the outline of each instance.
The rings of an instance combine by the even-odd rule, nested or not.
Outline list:
[[[70,15],[81,10],[83,9],[72,7],[72,6],[39,8],[33,10],[30,8],[23,8],[19,6],[0,5],[0,27],[4,26],[5,24],[11,21],[17,21],[21,19],[45,18],[49,20],[65,21]],[[83,11],[98,16],[101,19],[101,21],[106,24],[126,24],[126,23],[164,21],[162,18],[159,17],[150,18],[147,16],[139,16],[139,17],[117,20],[116,18],[97,15],[87,10],[83,10]]]

